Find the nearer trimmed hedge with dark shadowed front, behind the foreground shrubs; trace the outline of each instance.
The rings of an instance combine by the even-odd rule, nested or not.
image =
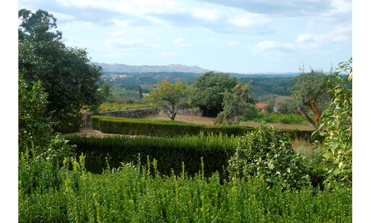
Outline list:
[[[215,171],[224,174],[224,168],[235,151],[235,137],[202,133],[197,136],[176,136],[169,138],[122,137],[80,137],[66,136],[71,145],[77,145],[76,153],[86,156],[85,167],[93,173],[101,173],[107,168],[121,166],[121,162],[135,162],[138,155],[158,160],[158,171],[170,175],[182,172],[182,163],[189,174],[201,168],[201,157],[205,163],[205,175]],[[107,163],[106,163],[107,158]]]

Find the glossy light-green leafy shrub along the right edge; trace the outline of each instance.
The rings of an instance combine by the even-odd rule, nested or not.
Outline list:
[[[317,171],[325,177],[325,187],[332,189],[352,185],[352,89],[339,76],[344,71],[349,74],[347,81],[352,82],[352,57],[339,63],[337,70],[326,82],[330,87],[326,94],[332,99],[314,133],[324,137],[317,148]]]

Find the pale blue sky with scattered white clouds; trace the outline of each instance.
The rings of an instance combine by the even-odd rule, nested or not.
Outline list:
[[[92,62],[235,73],[329,71],[352,56],[351,0],[19,0]],[[19,22],[20,20],[18,20]]]

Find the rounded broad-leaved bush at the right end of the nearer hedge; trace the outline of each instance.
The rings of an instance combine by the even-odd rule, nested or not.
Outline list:
[[[269,187],[278,183],[282,189],[309,186],[303,158],[294,153],[288,141],[288,135],[278,134],[277,129],[262,122],[260,128],[237,141],[227,168],[230,178],[263,177]]]

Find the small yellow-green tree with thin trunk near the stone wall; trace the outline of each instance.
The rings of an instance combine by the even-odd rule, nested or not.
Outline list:
[[[183,83],[179,79],[174,83],[165,78],[152,88],[145,102],[153,104],[154,107],[164,108],[169,118],[174,121],[177,115],[178,105],[183,98],[189,94],[188,82]]]

